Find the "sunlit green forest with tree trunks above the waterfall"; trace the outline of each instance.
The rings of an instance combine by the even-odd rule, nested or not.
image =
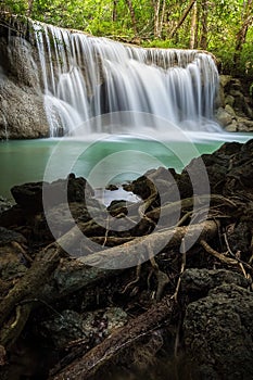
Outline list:
[[[2,10],[94,36],[208,50],[223,74],[253,81],[253,0],[0,0]]]

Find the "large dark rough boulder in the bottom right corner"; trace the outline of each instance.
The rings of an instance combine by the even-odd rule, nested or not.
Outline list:
[[[252,292],[235,283],[224,283],[188,305],[185,345],[198,379],[253,378],[252,313]]]

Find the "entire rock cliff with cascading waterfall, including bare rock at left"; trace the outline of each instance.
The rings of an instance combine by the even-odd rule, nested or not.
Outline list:
[[[30,20],[1,18],[2,139],[101,132],[103,126],[89,121],[123,111],[163,117],[167,128],[174,123],[219,130],[213,116],[218,72],[211,54],[137,48]]]

